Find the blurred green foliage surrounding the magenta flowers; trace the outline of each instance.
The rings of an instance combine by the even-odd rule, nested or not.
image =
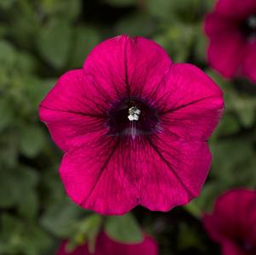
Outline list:
[[[200,222],[214,199],[233,187],[256,187],[256,86],[228,82],[206,62],[203,17],[214,0],[0,1],[0,254],[54,254],[60,240],[72,250],[104,228],[134,242],[145,229],[162,255],[220,254]],[[137,207],[101,217],[71,203],[60,182],[61,152],[38,120],[43,96],[65,71],[80,68],[107,37],[149,37],[176,62],[200,66],[225,92],[225,116],[210,141],[213,167],[202,195],[171,212]],[[202,159],[203,160],[203,159]]]

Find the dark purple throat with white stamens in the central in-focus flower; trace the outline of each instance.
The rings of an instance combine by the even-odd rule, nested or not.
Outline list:
[[[110,135],[128,135],[135,139],[136,136],[156,133],[157,124],[156,110],[142,99],[123,99],[109,111]]]

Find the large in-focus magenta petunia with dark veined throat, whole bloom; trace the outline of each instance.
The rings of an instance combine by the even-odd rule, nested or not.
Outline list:
[[[168,211],[199,194],[223,107],[221,90],[196,66],[121,36],[60,77],[40,118],[65,151],[60,176],[71,199],[123,214],[139,204]]]

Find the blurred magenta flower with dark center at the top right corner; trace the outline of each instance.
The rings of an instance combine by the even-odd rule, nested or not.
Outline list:
[[[219,0],[205,20],[208,61],[224,77],[256,82],[256,1]]]

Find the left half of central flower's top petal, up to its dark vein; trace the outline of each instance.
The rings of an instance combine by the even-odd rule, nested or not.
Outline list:
[[[127,97],[127,43],[129,37],[113,37],[98,44],[83,64],[95,88],[111,101]]]

